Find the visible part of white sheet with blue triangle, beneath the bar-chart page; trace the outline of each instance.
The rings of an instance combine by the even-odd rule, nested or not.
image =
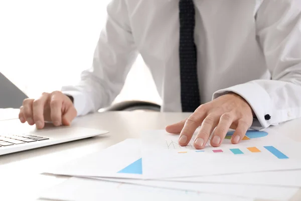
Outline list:
[[[67,162],[46,173],[71,176],[142,178],[140,141],[127,139],[107,149]]]

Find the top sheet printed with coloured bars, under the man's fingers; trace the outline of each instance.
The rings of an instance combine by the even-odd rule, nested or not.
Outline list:
[[[142,135],[143,178],[175,178],[230,173],[291,170],[301,168],[301,144],[267,130],[248,132],[237,145],[229,132],[220,147],[207,144],[193,147],[195,135],[186,147],[178,145],[178,135],[164,130]],[[160,157],[159,157],[160,156]],[[175,168],[176,167],[176,168]],[[235,167],[235,168],[234,168]]]

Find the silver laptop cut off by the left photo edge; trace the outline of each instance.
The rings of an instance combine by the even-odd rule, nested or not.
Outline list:
[[[26,97],[27,95],[24,92],[0,73],[0,108],[20,108],[23,99]],[[20,122],[16,122],[16,127],[18,126],[21,126]],[[75,126],[54,127],[49,123],[46,123],[45,129],[30,132],[2,130],[0,132],[0,156],[106,133],[108,131]]]

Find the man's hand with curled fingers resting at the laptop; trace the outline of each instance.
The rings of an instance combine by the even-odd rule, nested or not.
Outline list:
[[[69,126],[76,115],[71,99],[61,91],[54,91],[43,93],[38,99],[24,99],[19,119],[22,123],[36,124],[38,129],[42,129],[45,121],[51,121],[55,126]]]

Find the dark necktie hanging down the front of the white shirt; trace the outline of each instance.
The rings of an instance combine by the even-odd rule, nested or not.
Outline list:
[[[179,11],[182,112],[194,112],[201,103],[197,75],[197,50],[194,43],[195,8],[193,0],[180,0]]]

